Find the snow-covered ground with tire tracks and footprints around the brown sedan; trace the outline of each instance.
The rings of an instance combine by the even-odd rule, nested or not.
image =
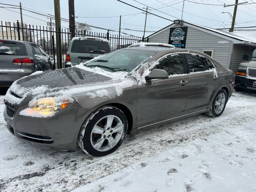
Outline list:
[[[15,138],[0,96],[0,191],[256,192],[256,94],[234,92],[218,118],[198,115],[127,137],[91,157]]]

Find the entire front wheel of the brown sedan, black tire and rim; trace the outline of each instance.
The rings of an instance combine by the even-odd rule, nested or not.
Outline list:
[[[105,156],[123,142],[128,128],[124,113],[112,106],[93,112],[81,127],[77,143],[91,156]]]

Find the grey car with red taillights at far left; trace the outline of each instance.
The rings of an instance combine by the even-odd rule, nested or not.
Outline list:
[[[10,86],[35,71],[54,69],[52,59],[37,44],[0,39],[0,86]]]

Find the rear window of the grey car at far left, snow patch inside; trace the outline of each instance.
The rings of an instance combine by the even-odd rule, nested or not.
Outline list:
[[[24,44],[0,43],[0,55],[27,55]]]

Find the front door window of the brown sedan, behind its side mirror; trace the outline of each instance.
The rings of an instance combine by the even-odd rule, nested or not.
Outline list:
[[[167,71],[168,75],[184,74],[184,65],[181,54],[172,54],[159,60],[154,67]]]

